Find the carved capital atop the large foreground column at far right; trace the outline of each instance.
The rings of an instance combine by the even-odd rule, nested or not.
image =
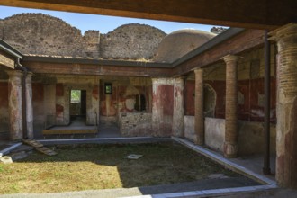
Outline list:
[[[269,35],[272,36],[269,40],[275,41],[290,37],[297,37],[297,23],[286,24],[275,31],[269,32]]]

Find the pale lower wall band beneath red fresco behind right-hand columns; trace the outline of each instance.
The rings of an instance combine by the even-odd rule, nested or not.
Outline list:
[[[225,120],[205,118],[204,129],[206,146],[222,152],[225,139]],[[275,154],[276,130],[274,124],[271,125],[270,131],[270,152]],[[238,132],[238,155],[263,153],[263,122],[238,121]],[[195,138],[194,116],[184,116],[184,137],[191,140]]]

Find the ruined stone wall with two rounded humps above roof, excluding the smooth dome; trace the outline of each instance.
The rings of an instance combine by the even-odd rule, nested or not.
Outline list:
[[[0,19],[0,39],[23,54],[73,58],[151,59],[166,36],[149,25],[126,24],[107,34],[81,31],[47,14]]]

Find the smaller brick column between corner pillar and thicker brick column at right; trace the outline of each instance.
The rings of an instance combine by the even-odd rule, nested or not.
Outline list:
[[[194,130],[196,134],[195,143],[204,144],[204,112],[203,112],[203,69],[197,68],[195,72],[195,120]]]

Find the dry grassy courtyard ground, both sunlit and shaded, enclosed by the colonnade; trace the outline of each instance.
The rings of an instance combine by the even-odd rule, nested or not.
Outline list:
[[[237,176],[175,143],[56,147],[0,164],[0,193],[53,193],[191,182],[211,174]],[[130,154],[143,155],[137,160]]]

